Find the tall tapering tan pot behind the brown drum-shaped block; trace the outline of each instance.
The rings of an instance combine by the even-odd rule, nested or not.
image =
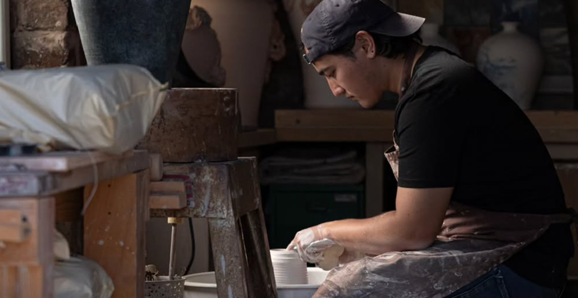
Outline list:
[[[221,66],[227,72],[224,87],[239,90],[243,126],[257,126],[273,6],[269,0],[195,0],[206,10],[221,44]]]

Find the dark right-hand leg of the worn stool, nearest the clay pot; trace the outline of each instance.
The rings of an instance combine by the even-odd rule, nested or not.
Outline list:
[[[247,282],[251,297],[276,298],[275,276],[261,207],[243,215],[240,221],[247,254]]]

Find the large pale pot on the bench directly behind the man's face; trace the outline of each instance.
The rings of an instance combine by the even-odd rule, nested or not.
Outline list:
[[[295,42],[298,44],[299,49],[301,49],[301,25],[303,25],[305,18],[309,16],[319,2],[321,0],[283,0],[291,23],[291,29],[295,36]],[[331,89],[329,89],[327,80],[320,76],[312,65],[307,64],[303,59],[300,60],[303,71],[305,107],[309,109],[331,107],[361,108],[357,102],[345,96],[336,98]]]

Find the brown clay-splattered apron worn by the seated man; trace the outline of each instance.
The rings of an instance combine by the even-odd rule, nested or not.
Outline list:
[[[385,155],[397,179],[395,137]],[[347,263],[329,273],[313,298],[446,297],[505,262],[550,225],[572,221],[577,221],[573,210],[555,215],[498,213],[452,202],[431,247]]]

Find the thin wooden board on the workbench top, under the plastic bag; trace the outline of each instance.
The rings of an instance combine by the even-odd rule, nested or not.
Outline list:
[[[0,157],[0,165],[16,164],[24,166],[28,170],[68,172],[79,167],[92,165],[92,163],[125,158],[132,154],[132,150],[121,155],[111,155],[101,151],[55,151],[20,157]]]

